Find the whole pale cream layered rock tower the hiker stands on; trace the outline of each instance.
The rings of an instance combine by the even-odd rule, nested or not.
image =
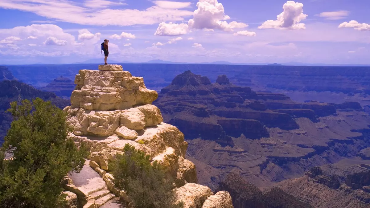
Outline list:
[[[124,154],[125,144],[133,145],[150,155],[153,161],[164,165],[166,172],[175,178],[178,197],[188,196],[184,199],[185,204],[191,204],[189,200],[203,203],[213,195],[208,187],[194,184],[197,182],[196,170],[194,164],[185,158],[188,143],[184,141],[184,134],[163,123],[161,111],[152,105],[158,94],[145,87],[142,77],[133,77],[120,65],[105,65],[99,66],[99,70],[80,70],[75,84],[71,106],[64,108],[68,114],[67,121],[73,128],[70,136],[76,144],[86,142],[90,147],[88,165],[100,177],[86,180],[103,181],[101,188],[89,183],[74,185],[73,180],[67,182],[67,191],[77,192],[85,207],[100,207],[113,198],[98,193],[104,187],[126,199],[125,192],[114,187],[109,173],[109,162],[116,154]],[[91,169],[86,171],[91,172]],[[71,175],[71,178],[78,177]],[[199,196],[188,195],[186,190],[192,189],[191,186],[197,186]]]

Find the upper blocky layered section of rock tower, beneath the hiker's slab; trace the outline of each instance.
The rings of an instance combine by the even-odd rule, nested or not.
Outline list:
[[[80,70],[75,84],[71,108],[124,110],[151,104],[158,98],[156,91],[145,87],[142,77],[132,77],[128,71]]]

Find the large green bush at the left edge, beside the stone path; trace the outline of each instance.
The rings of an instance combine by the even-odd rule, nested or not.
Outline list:
[[[87,148],[78,150],[67,137],[66,115],[50,101],[14,101],[8,111],[14,121],[0,148],[0,207],[60,206],[60,183],[68,172],[82,169]],[[3,160],[5,152],[13,160]]]

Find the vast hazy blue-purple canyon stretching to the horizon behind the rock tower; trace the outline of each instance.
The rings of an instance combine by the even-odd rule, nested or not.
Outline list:
[[[93,67],[96,64],[6,66],[0,70],[3,77],[8,77],[4,82],[10,72],[14,74],[11,79],[24,82],[21,84],[48,91],[51,97],[58,98],[57,94],[69,99],[73,90],[82,87],[71,81],[75,74]],[[122,64],[122,67],[142,77],[148,89],[158,92],[158,99],[152,104],[161,111],[163,122],[184,133],[188,143],[184,158],[195,165],[199,184],[222,191],[219,185],[227,181],[227,175],[237,173],[246,183],[263,190],[262,195],[280,196],[284,200],[293,195],[306,203],[297,206],[334,203],[320,198],[319,191],[343,201],[354,199],[351,202],[354,204],[343,207],[369,205],[366,185],[354,188],[345,181],[348,175],[370,171],[369,67],[211,64]],[[17,96],[14,94],[12,99]],[[108,109],[106,104],[95,106],[90,101],[78,105],[87,110]],[[70,104],[67,101],[61,108]],[[7,122],[10,124],[9,119]],[[4,132],[6,129],[5,126]],[[101,129],[83,128],[80,133],[97,131]],[[114,131],[104,134],[108,137],[111,133]],[[313,167],[320,167],[323,175],[310,177]],[[339,175],[339,183],[333,182],[332,175]],[[339,188],[333,189],[338,184]],[[294,187],[304,191],[296,194],[292,191],[296,190]],[[323,202],[320,204],[315,197]]]

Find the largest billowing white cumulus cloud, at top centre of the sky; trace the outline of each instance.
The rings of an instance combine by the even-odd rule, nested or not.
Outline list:
[[[248,27],[245,23],[232,21],[228,23],[230,17],[225,14],[221,3],[217,0],[199,0],[196,3],[198,9],[194,11],[193,18],[188,23],[165,23],[159,24],[155,35],[176,36],[189,33],[194,30],[214,30],[233,31],[234,28]]]

